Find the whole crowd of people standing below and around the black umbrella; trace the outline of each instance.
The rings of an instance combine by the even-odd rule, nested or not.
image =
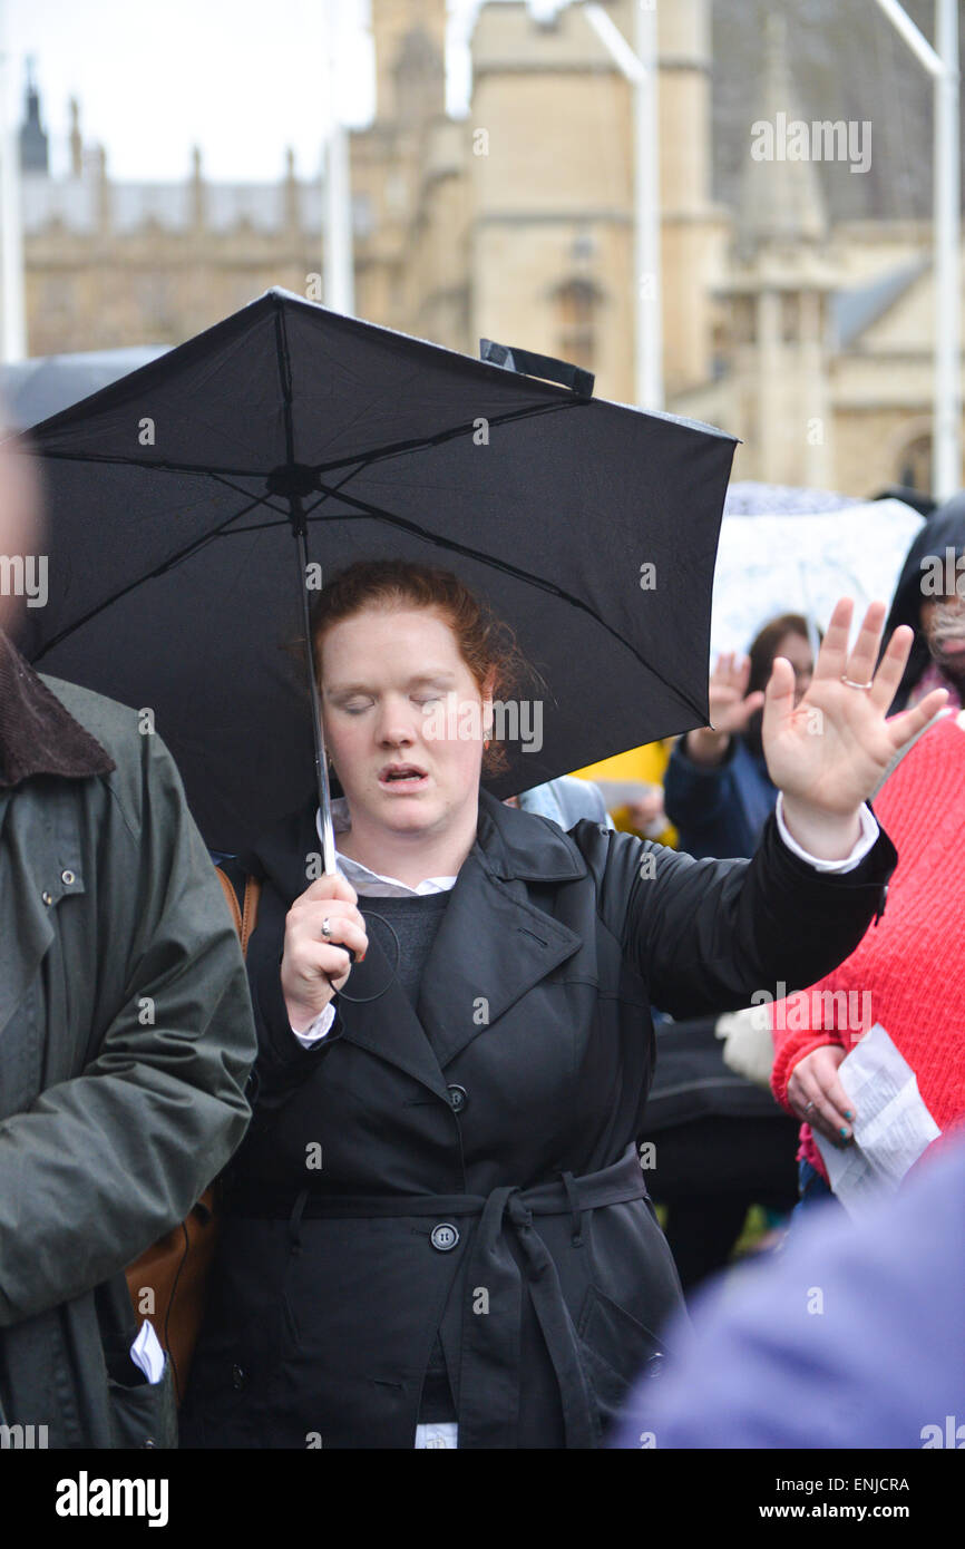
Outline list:
[[[26,548],[14,462],[0,547]],[[953,582],[926,590],[936,555]],[[311,615],[336,871],[307,875],[313,798],[225,860],[228,894],[161,739],[36,672],[0,606],[0,1425],[104,1448],[922,1445],[962,1369],[965,503],[923,522],[891,612],[781,613],[722,657],[709,725],[657,750],[663,796],[613,812],[587,771],[496,799],[508,632],[446,568],[350,565]],[[482,737],[424,737],[446,696]],[[773,1097],[757,1075],[743,1111],[717,1022],[762,990]],[[942,1137],[857,1222],[816,1142],[857,1145],[841,1064],[872,1021]],[[697,1027],[694,1087],[711,1061],[726,1101],[654,1140],[655,1053]],[[784,1114],[790,1227],[754,1132],[779,1120],[793,1166]],[[132,1266],[191,1247],[212,1183],[175,1349]],[[751,1204],[771,1248],[691,1327],[685,1292]],[[815,1286],[833,1317],[802,1321]]]

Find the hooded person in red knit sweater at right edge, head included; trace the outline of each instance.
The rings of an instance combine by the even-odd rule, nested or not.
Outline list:
[[[965,841],[965,716],[954,716],[965,699],[965,496],[915,536],[889,612],[889,626],[900,624],[914,627],[915,640],[891,713],[920,703],[936,688],[946,689],[948,702],[875,801],[900,855],[888,914],[827,979],[770,1008],[773,1090],[802,1120],[802,1207],[830,1197],[812,1129],[850,1143],[853,1115],[838,1066],[874,1022],[915,1070],[939,1126],[965,1111],[965,970],[959,970],[965,894],[960,869],[950,864]],[[858,1025],[840,1025],[841,1018],[853,1019],[853,1007],[861,1010]]]

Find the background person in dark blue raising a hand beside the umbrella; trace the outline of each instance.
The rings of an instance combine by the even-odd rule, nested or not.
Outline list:
[[[761,744],[764,686],[776,657],[795,671],[795,703],[815,668],[807,620],[782,613],[757,634],[748,657],[723,652],[711,674],[711,725],[680,737],[666,771],[668,816],[688,855],[753,855],[778,790]]]

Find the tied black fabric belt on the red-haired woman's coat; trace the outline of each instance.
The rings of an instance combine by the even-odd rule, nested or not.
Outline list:
[[[630,1145],[620,1162],[598,1173],[558,1179],[531,1188],[494,1188],[491,1194],[355,1194],[325,1196],[302,1190],[249,1185],[232,1193],[228,1208],[245,1216],[288,1218],[297,1230],[305,1218],[479,1216],[465,1281],[468,1295],[483,1289],[489,1312],[463,1312],[458,1376],[460,1447],[514,1447],[519,1425],[522,1358],[522,1297],[530,1295],[539,1320],[562,1403],[567,1447],[599,1445],[599,1420],[582,1366],[576,1329],[565,1304],[556,1266],[533,1227],[536,1216],[573,1214],[573,1241],[581,1214],[601,1205],[646,1199],[640,1160]],[[508,1242],[513,1231],[522,1273]]]

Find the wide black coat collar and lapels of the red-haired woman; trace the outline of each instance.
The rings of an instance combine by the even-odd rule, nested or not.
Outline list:
[[[245,869],[274,883],[285,903],[308,886],[307,857],[318,853],[319,843],[314,812],[313,799],[240,857]],[[586,874],[579,847],[548,818],[507,807],[480,790],[476,844],[449,894],[418,1005],[414,1010],[393,981],[393,965],[372,932],[366,960],[347,985],[358,1001],[339,1001],[344,1036],[448,1100],[443,1067],[584,945],[530,898],[525,884],[576,881]],[[378,898],[372,908],[378,911]],[[362,1001],[379,990],[376,999]]]

